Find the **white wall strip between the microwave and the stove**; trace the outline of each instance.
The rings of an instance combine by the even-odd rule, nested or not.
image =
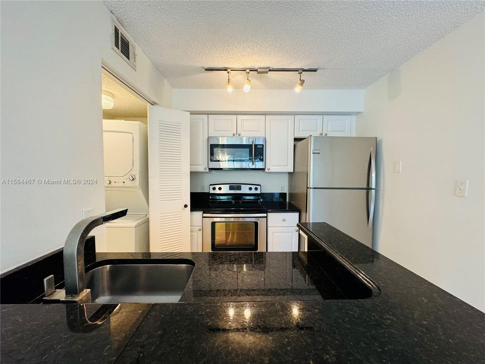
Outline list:
[[[218,183],[253,183],[261,185],[262,192],[288,192],[288,173],[271,173],[248,170],[211,170],[209,172],[190,173],[190,192],[201,192],[205,186],[209,192],[210,184]]]

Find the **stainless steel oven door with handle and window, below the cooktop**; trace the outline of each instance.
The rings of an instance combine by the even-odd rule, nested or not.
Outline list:
[[[266,214],[204,214],[203,251],[266,251]]]

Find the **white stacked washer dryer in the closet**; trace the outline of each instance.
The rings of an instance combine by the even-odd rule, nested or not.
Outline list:
[[[106,224],[108,252],[149,252],[148,132],[139,121],[103,120],[106,211],[128,207]]]

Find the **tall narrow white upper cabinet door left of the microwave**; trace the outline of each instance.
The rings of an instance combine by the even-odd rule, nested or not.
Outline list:
[[[208,172],[207,115],[190,115],[190,172]]]

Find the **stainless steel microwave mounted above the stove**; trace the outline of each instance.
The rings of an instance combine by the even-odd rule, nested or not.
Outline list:
[[[211,136],[209,169],[264,169],[264,136]]]

